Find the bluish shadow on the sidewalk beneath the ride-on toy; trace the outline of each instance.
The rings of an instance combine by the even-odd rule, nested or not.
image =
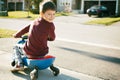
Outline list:
[[[25,80],[30,80],[29,76],[30,72],[31,70],[26,68],[24,71],[13,72],[13,74],[20,78],[24,78]],[[71,77],[63,73],[59,74],[58,76],[54,76],[49,69],[45,69],[39,70],[39,76],[37,80],[80,80],[80,79]]]

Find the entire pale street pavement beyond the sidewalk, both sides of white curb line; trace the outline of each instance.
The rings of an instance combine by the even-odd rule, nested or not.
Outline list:
[[[49,42],[49,53],[56,56],[55,65],[105,80],[119,80],[119,26],[84,25],[83,22],[79,23],[80,17],[74,16],[72,19],[77,21],[66,22],[69,18],[59,17],[55,20],[57,39]],[[0,19],[0,27],[18,30],[30,22],[13,20]],[[0,50],[12,53],[16,41],[12,38],[0,39]]]

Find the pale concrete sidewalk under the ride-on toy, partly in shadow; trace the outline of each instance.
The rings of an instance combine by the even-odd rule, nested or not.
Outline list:
[[[30,80],[30,70],[11,73],[10,69],[11,54],[0,51],[0,79],[1,80]],[[38,80],[102,80],[75,71],[59,68],[60,74],[54,77],[49,69],[39,71]]]

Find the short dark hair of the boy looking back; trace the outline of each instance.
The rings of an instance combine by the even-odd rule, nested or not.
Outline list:
[[[46,2],[43,4],[42,12],[45,13],[47,10],[56,11],[56,5],[51,1]]]

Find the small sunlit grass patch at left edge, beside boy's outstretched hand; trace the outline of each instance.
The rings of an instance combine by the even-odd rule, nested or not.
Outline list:
[[[0,28],[0,38],[10,38],[16,31]]]

